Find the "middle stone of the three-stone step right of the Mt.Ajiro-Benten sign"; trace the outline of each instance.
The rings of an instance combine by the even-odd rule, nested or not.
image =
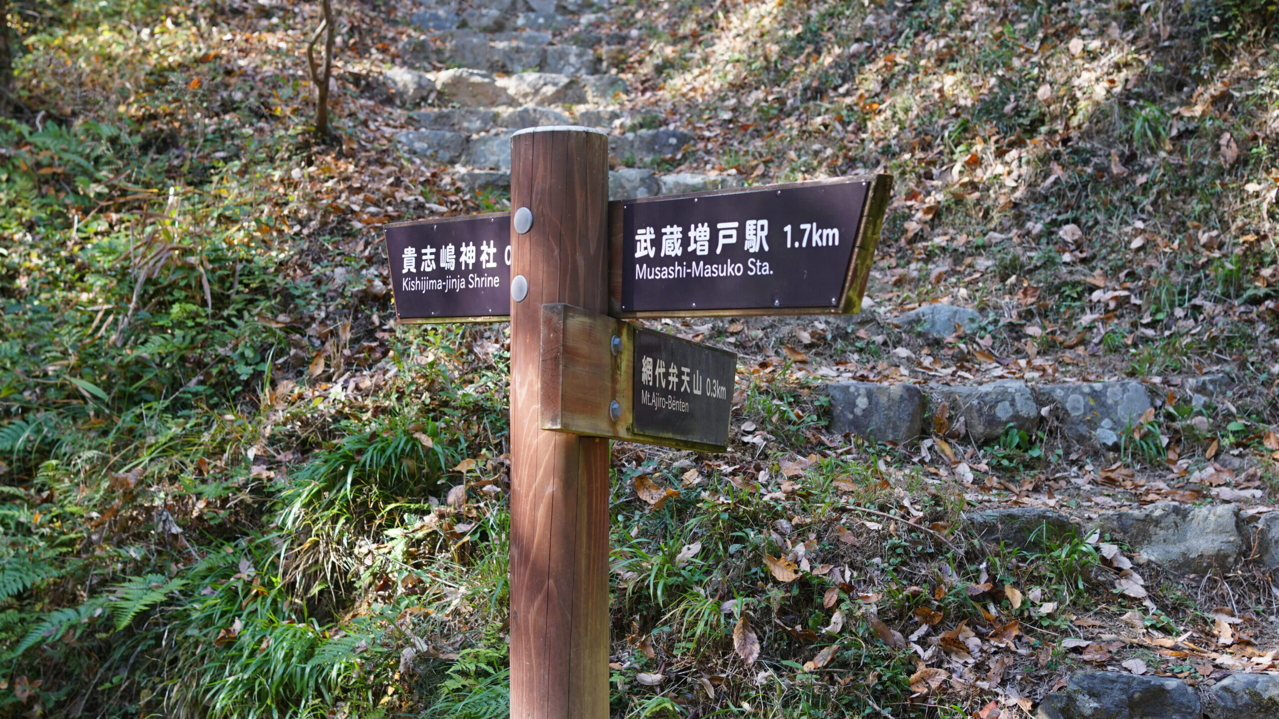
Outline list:
[[[930,384],[929,394],[935,404],[946,403],[952,425],[962,417],[964,432],[978,444],[999,439],[1009,425],[1026,432],[1039,426],[1039,404],[1023,381],[999,380],[977,386]]]

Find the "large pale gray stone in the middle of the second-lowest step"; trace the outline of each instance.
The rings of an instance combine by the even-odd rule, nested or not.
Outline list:
[[[1159,502],[1134,512],[1102,514],[1095,526],[1173,572],[1206,574],[1239,562],[1243,537],[1234,504],[1193,507]]]

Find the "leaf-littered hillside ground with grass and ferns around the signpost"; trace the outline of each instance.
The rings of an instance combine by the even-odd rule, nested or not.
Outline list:
[[[396,326],[381,241],[509,202],[395,139],[417,10],[335,6],[321,141],[317,3],[10,6],[0,716],[505,715],[508,328]],[[610,55],[616,132],[694,136],[655,169],[895,179],[861,315],[650,324],[741,362],[730,452],[614,448],[615,716],[994,719],[1081,668],[1279,669],[1253,562],[1187,580],[964,521],[1276,508],[1273,4],[593,10],[555,37]],[[982,324],[891,322],[934,302]],[[1209,375],[1233,391],[1191,403]],[[1053,423],[895,446],[828,431],[853,379],[1165,400],[1113,452]]]

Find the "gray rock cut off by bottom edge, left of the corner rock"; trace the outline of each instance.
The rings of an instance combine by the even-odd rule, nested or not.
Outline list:
[[[1195,690],[1181,679],[1118,672],[1071,677],[1040,702],[1036,719],[1200,719]]]

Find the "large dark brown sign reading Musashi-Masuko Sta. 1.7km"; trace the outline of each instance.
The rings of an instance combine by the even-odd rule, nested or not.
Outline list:
[[[610,313],[856,312],[890,189],[861,175],[613,202]]]

